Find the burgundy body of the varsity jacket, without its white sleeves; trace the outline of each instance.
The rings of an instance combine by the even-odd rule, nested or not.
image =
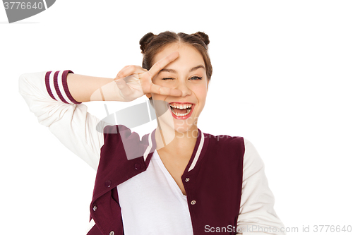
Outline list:
[[[124,234],[116,186],[147,169],[155,146],[155,131],[140,140],[137,133],[131,133],[125,126],[104,128],[104,145],[90,204],[90,219],[95,220],[95,225],[88,235]],[[140,157],[128,159],[126,152]],[[181,176],[193,234],[207,234],[205,225],[232,225],[234,232],[223,234],[236,234],[244,152],[242,137],[215,136],[198,129],[193,154]]]

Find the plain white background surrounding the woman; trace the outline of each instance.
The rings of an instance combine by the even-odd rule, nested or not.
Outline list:
[[[210,36],[214,73],[198,127],[251,140],[277,215],[299,228],[289,234],[353,226],[352,12],[352,1],[59,0],[8,24],[0,7],[1,234],[85,234],[95,181],[37,123],[18,77],[71,69],[114,78],[141,64],[145,33],[164,30]]]

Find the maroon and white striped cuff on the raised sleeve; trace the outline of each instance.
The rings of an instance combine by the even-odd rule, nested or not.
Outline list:
[[[73,73],[71,70],[48,71],[45,74],[45,86],[52,99],[64,102],[66,104],[80,104],[73,99],[67,85],[67,75]]]

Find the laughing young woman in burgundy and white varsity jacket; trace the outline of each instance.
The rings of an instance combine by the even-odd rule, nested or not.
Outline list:
[[[140,40],[143,66],[126,66],[114,79],[20,76],[20,94],[39,122],[97,169],[89,235],[285,234],[249,140],[197,127],[212,76],[208,43],[203,32],[150,32]],[[102,124],[81,104],[143,95],[158,125],[142,139]]]

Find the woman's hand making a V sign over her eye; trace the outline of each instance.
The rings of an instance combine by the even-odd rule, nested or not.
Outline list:
[[[151,93],[181,96],[181,90],[167,88],[152,83],[152,78],[156,76],[162,68],[167,66],[167,64],[177,59],[178,56],[178,52],[169,54],[160,61],[157,61],[149,71],[140,66],[125,66],[119,71],[114,79],[119,88],[119,95],[124,101],[135,100],[143,95],[150,97]]]

